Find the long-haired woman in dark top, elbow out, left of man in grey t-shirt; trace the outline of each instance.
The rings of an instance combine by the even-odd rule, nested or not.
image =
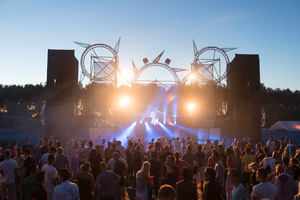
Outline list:
[[[99,164],[100,165],[100,164]],[[94,177],[90,173],[91,164],[89,161],[84,162],[70,181],[76,181],[79,189],[79,195],[81,200],[92,200],[93,189],[94,189]]]

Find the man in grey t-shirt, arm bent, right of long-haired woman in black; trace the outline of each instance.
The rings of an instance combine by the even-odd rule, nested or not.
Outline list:
[[[114,200],[114,189],[117,187],[120,176],[107,170],[106,163],[100,163],[101,173],[97,176],[95,194],[106,200]]]

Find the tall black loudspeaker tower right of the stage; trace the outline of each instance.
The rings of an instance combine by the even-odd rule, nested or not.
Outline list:
[[[261,139],[259,56],[236,54],[228,69],[229,113],[236,134]]]

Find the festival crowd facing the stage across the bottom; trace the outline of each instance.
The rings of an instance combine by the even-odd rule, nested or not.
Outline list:
[[[127,139],[126,147],[105,138],[1,147],[1,199],[300,199],[300,151],[288,138],[228,147],[225,139]]]

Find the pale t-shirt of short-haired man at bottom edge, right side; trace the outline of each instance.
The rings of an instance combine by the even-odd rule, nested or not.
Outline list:
[[[275,197],[277,196],[277,191],[274,185],[265,182],[254,186],[251,196],[256,197],[257,200],[275,200]]]

